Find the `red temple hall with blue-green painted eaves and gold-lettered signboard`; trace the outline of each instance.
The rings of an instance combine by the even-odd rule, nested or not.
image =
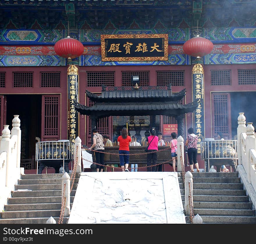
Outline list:
[[[90,146],[91,126],[112,141],[123,126],[143,137],[153,125],[164,140],[190,127],[234,139],[239,112],[256,121],[255,11],[252,0],[0,0],[0,135],[19,115],[25,169],[36,137]],[[202,57],[183,50],[197,35],[213,44]],[[79,57],[55,52],[68,36]]]

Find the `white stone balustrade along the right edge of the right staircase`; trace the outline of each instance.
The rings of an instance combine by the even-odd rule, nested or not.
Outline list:
[[[256,206],[256,138],[253,123],[246,124],[246,117],[239,113],[237,127],[238,162],[237,171],[246,193]]]

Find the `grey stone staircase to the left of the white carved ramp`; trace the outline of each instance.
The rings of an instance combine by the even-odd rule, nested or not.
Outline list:
[[[78,173],[75,176],[70,208],[79,176]],[[15,191],[12,191],[12,197],[8,198],[8,204],[4,206],[4,212],[1,212],[0,224],[44,224],[51,216],[58,223],[61,213],[61,177],[62,174],[22,175],[18,185],[15,185]],[[68,217],[64,217],[63,224],[67,221]]]

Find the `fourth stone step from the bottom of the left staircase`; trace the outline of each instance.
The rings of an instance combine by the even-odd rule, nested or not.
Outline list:
[[[70,203],[73,203],[74,196],[70,196]],[[61,203],[61,196],[47,197],[11,197],[8,204],[29,204],[29,203]]]

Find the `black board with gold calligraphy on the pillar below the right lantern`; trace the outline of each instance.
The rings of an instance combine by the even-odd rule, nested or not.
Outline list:
[[[205,139],[205,111],[204,111],[204,69],[201,64],[192,68],[193,101],[198,100],[198,107],[194,112],[195,134],[198,136],[198,152],[200,142]]]

